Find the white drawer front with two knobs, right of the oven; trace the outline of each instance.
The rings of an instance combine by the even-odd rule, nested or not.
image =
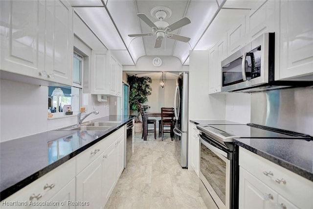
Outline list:
[[[299,208],[313,208],[313,182],[240,147],[239,165]]]

